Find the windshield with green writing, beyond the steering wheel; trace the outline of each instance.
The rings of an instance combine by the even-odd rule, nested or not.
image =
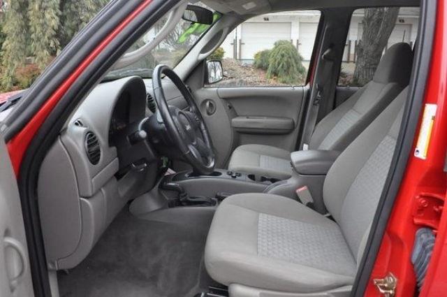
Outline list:
[[[200,2],[194,3],[193,5],[203,6],[210,9]],[[221,17],[217,12],[214,12],[213,16],[214,22]],[[158,20],[145,35],[138,39],[138,41],[126,51],[126,53],[138,50],[151,42],[157,34],[159,34],[167,21],[168,15],[165,15]],[[168,35],[155,46],[155,48],[145,55],[145,57],[142,57],[130,66],[110,71],[108,75],[105,76],[105,80],[113,80],[130,75],[151,78],[153,69],[159,64],[165,64],[170,66],[170,68],[175,68],[175,66],[179,64],[179,61],[182,61],[189,50],[196,45],[200,37],[203,36],[211,26],[212,25],[210,24],[198,24],[183,19],[179,20],[177,26],[175,26],[175,28],[170,31]]]

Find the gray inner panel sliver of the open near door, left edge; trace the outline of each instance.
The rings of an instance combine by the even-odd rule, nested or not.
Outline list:
[[[17,182],[0,136],[0,296],[34,296]]]

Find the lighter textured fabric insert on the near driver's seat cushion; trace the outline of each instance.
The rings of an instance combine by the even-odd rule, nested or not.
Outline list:
[[[261,213],[258,255],[352,276],[356,263],[335,224],[320,226]]]

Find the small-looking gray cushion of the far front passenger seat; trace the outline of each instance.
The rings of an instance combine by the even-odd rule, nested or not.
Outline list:
[[[228,169],[286,180],[292,175],[291,152],[270,145],[241,145],[233,152]]]

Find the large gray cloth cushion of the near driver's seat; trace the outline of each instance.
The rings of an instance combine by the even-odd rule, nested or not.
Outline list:
[[[356,261],[339,226],[298,201],[270,194],[228,197],[205,247],[223,284],[309,293],[353,284]]]

